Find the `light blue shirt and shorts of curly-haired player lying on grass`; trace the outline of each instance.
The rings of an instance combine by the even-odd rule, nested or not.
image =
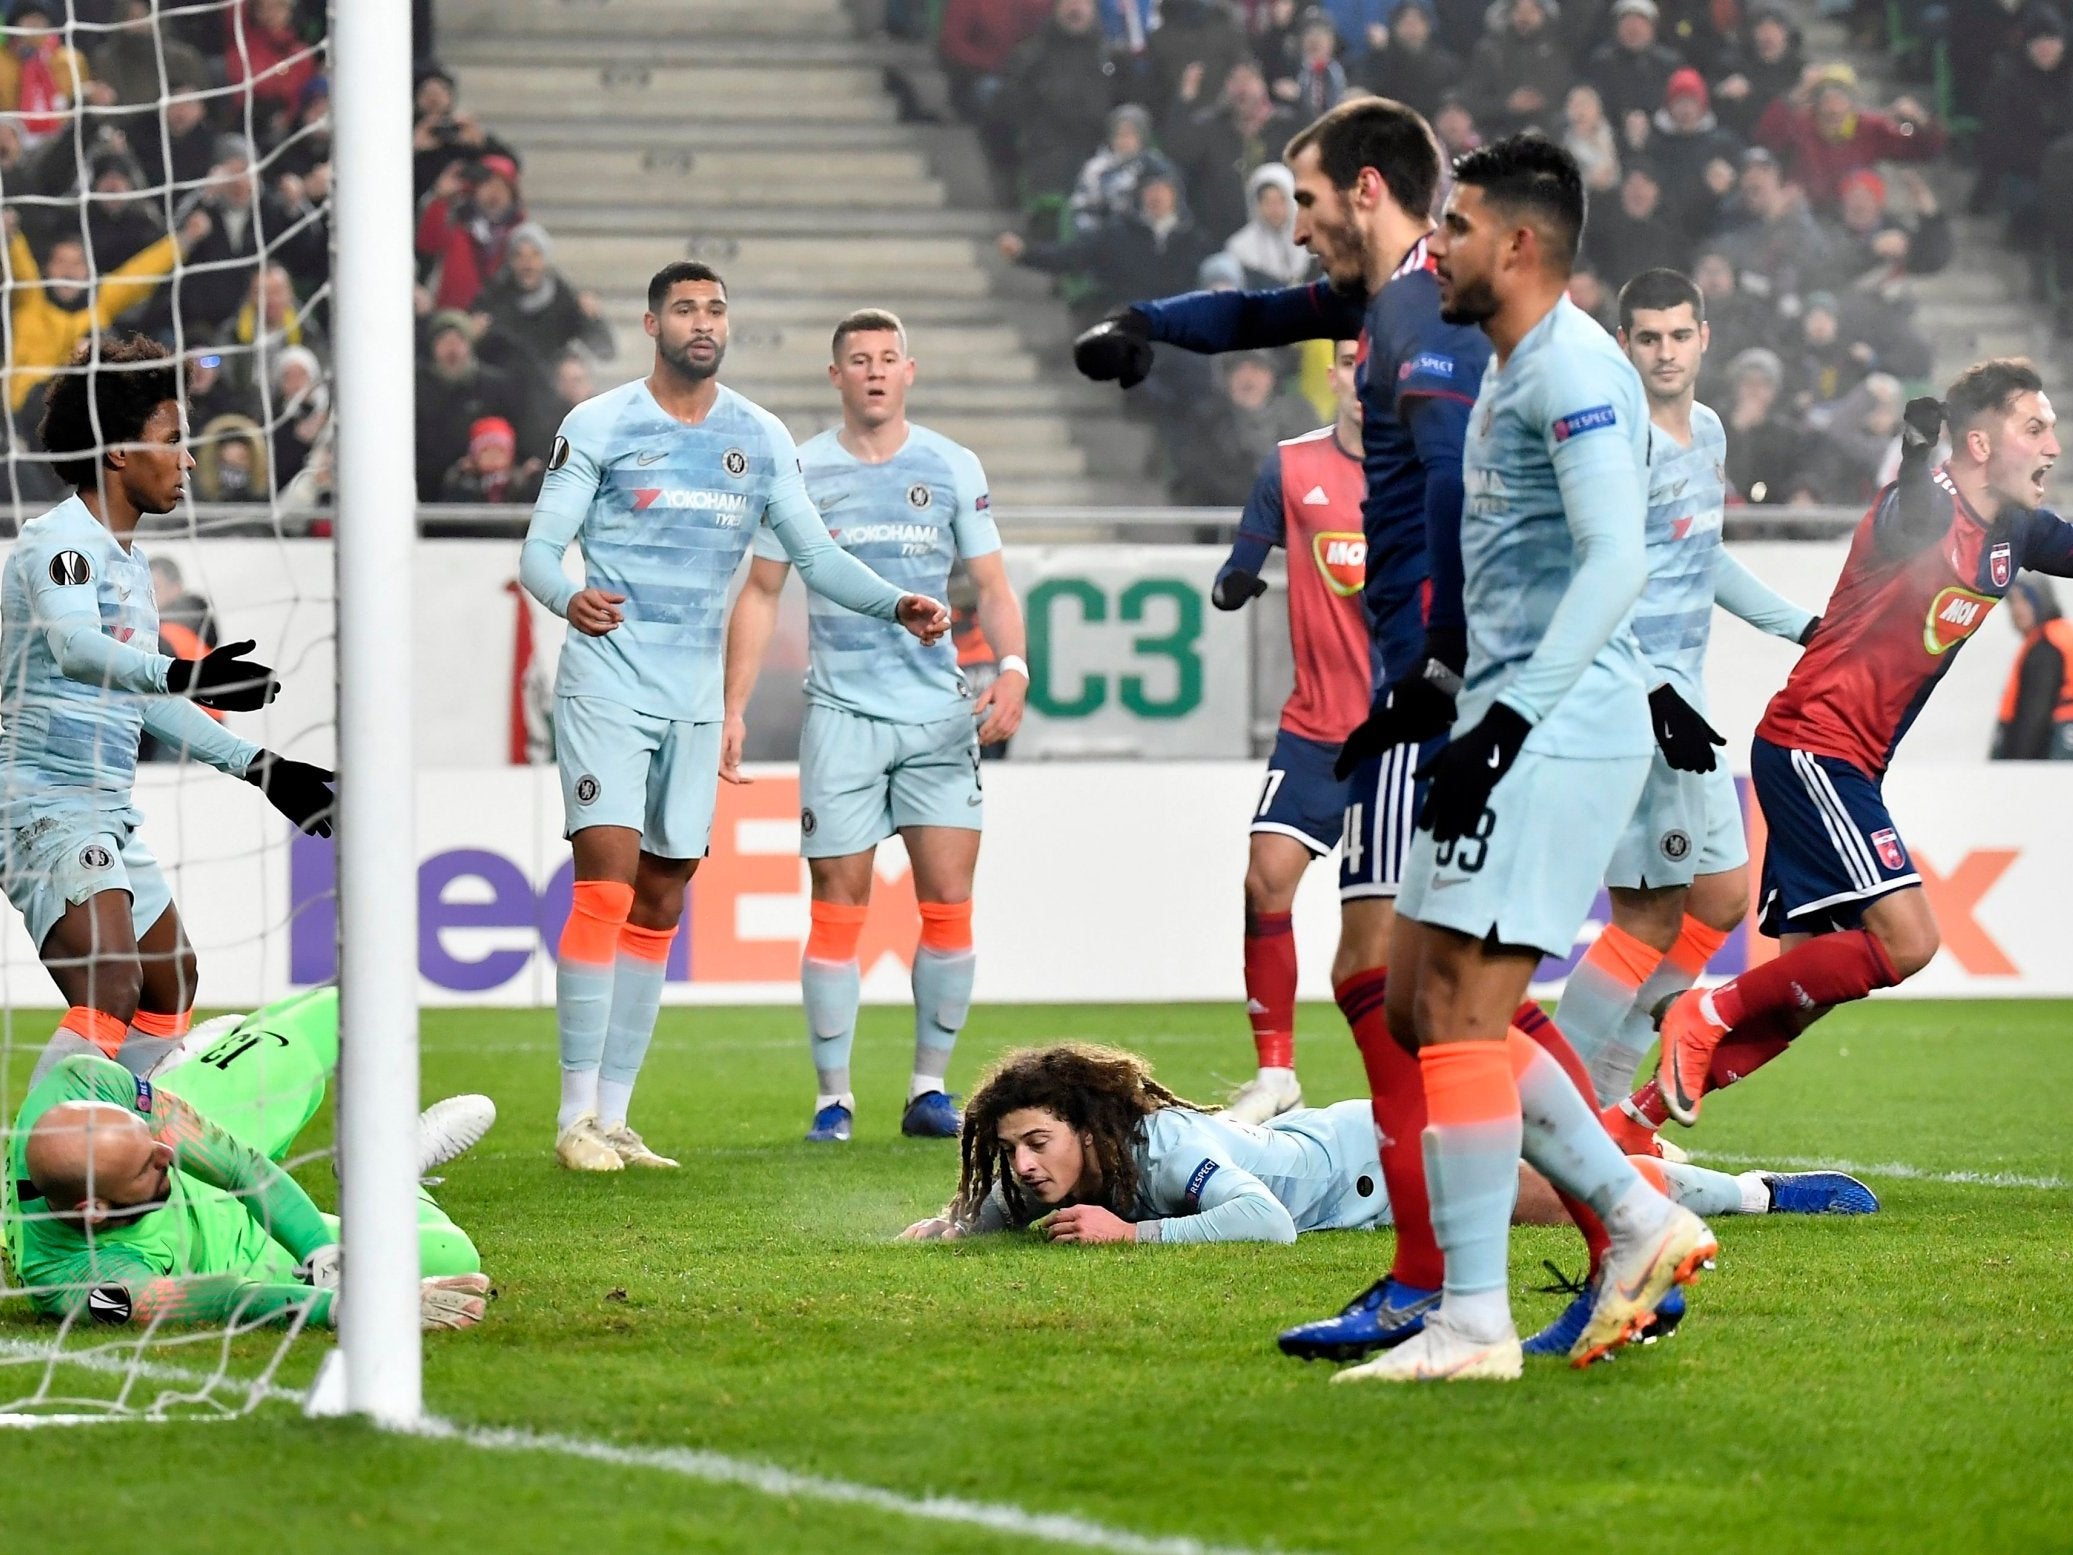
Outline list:
[[[1389,1223],[1389,1194],[1374,1153],[1374,1113],[1366,1101],[1298,1107],[1267,1124],[1236,1124],[1221,1113],[1161,1107],[1138,1140],[1136,1221],[1163,1221],[1161,1242],[1231,1240],[1246,1221],[1279,1221],[1267,1196],[1287,1211],[1296,1232]],[[1252,1198],[1265,1215],[1231,1215]],[[1250,1207],[1248,1207],[1250,1209]],[[1217,1217],[1202,1221],[1209,1211]],[[1229,1219],[1215,1236],[1217,1219]],[[1283,1225],[1285,1236],[1285,1221]]]

